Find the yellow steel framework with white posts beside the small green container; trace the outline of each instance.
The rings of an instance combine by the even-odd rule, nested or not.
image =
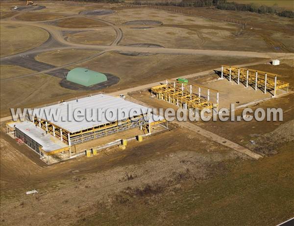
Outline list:
[[[201,91],[207,91],[203,95]],[[192,83],[182,83],[177,80],[167,79],[165,84],[154,86],[150,90],[151,96],[165,100],[184,110],[202,111],[219,106],[219,91]],[[211,101],[211,92],[216,93],[216,103]]]

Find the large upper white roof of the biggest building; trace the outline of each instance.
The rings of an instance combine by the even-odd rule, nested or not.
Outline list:
[[[142,114],[142,112],[146,114],[148,110],[146,107],[142,105],[124,100],[123,98],[120,98],[120,97],[114,97],[114,96],[109,96],[105,94],[98,94],[98,95],[93,95],[89,97],[84,97],[84,98],[78,99],[77,101],[72,100],[63,104],[62,103],[55,104],[55,105],[40,108],[39,110],[47,111],[47,112],[49,112],[49,110],[51,111],[53,110],[57,112],[57,109],[60,109],[59,110],[60,116],[58,117],[57,120],[53,120],[53,118],[47,119],[45,112],[43,113],[43,115],[40,114],[40,118],[50,121],[56,126],[66,131],[69,131],[70,133],[75,133],[85,129],[93,128],[95,126],[107,124],[112,121],[126,119],[130,116],[129,113],[131,109],[139,109],[141,111],[138,113],[133,113],[132,114],[133,116],[140,115]],[[72,109],[70,110],[70,112],[72,112],[71,115],[68,115],[69,109]],[[73,118],[73,112],[74,110],[77,110],[77,109],[82,110],[84,115],[86,115],[86,112],[88,112],[89,115],[92,115],[92,111],[93,111],[94,121],[87,120],[86,117],[83,117],[81,121],[75,121]],[[101,109],[105,109],[105,111],[108,109],[108,112],[106,111],[101,115],[100,120],[98,120],[98,109],[100,109],[100,111]],[[113,111],[115,112],[115,117],[113,120],[108,120],[109,118],[108,119],[106,118],[106,116],[112,115],[112,113],[109,112],[110,109],[113,109]],[[126,114],[118,115],[117,114],[118,109],[125,109]],[[72,117],[72,120],[69,119],[70,117]],[[161,120],[163,119],[163,117],[160,117],[160,118]],[[152,117],[150,120],[153,121]]]

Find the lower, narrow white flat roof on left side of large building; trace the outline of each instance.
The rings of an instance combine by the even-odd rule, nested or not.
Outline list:
[[[12,127],[14,127],[14,125],[25,135],[39,143],[45,152],[51,152],[68,147],[68,145],[63,143],[61,140],[50,134],[46,134],[44,130],[30,121],[15,122],[10,124]]]

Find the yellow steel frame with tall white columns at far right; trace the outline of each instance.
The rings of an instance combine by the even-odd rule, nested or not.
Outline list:
[[[221,78],[226,77],[229,82],[234,80],[238,85],[251,86],[254,90],[260,89],[264,93],[273,91],[276,96],[277,90],[289,89],[289,83],[277,80],[276,74],[249,68],[236,68],[233,66],[221,66]]]

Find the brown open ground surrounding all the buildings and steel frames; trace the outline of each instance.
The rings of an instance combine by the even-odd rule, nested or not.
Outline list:
[[[263,4],[274,2],[277,1]],[[147,85],[187,75],[190,82],[220,90],[220,107],[270,97],[270,93],[219,80],[213,69],[221,65],[246,65],[276,73],[279,79],[290,83],[293,91],[293,56],[281,59],[279,66],[269,64],[274,53],[294,52],[293,19],[205,7],[129,7],[124,3],[46,0],[37,3],[46,8],[12,12],[11,7],[24,6],[25,2],[0,4],[1,117],[9,116],[10,108],[30,108],[100,92],[122,93],[127,100],[145,106],[176,110],[168,102],[151,98]],[[279,7],[290,7],[289,1],[277,3]],[[79,14],[97,9],[111,9],[115,13],[86,17]],[[163,24],[124,24],[138,20]],[[237,35],[236,30],[242,32]],[[127,51],[130,44],[228,52],[221,56],[139,54]],[[92,48],[93,45],[99,46]],[[126,51],[118,52],[117,45],[126,45]],[[230,51],[271,54],[265,59],[235,57]],[[87,59],[99,52],[103,54]],[[13,58],[15,63],[30,57],[29,65],[2,63],[3,56],[17,53],[24,58]],[[87,60],[80,63],[83,59]],[[113,74],[120,81],[101,90],[70,90],[60,86],[61,78],[42,69],[66,64],[71,66],[65,69],[89,68]],[[38,71],[40,74],[13,78]],[[215,96],[211,98],[215,100]],[[125,150],[107,148],[97,156],[52,165],[6,135],[1,118],[1,225],[277,225],[294,212],[293,199],[289,198],[294,195],[293,98],[290,92],[251,106],[253,110],[281,108],[283,121],[174,121],[169,123],[168,130],[144,137],[142,142],[128,142]],[[241,115],[242,110],[238,109],[235,115]],[[198,130],[189,129],[187,124],[190,128],[198,126]],[[253,160],[226,146],[227,141],[217,142],[201,134],[200,129],[242,145],[263,158]],[[88,149],[140,133],[134,129],[75,148]],[[32,189],[39,193],[25,195]]]

